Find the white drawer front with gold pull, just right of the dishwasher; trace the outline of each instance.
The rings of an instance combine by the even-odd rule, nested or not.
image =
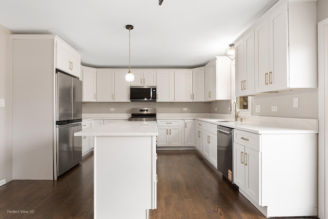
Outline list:
[[[254,134],[251,132],[245,132],[237,129],[234,130],[234,142],[259,152],[261,151],[260,136],[261,135],[259,134]]]

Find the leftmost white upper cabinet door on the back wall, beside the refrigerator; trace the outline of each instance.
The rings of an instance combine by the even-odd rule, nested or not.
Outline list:
[[[96,69],[84,68],[82,73],[83,102],[96,101]]]

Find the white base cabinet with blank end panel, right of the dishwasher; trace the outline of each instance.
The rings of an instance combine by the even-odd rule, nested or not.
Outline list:
[[[234,183],[266,217],[318,215],[318,134],[234,129]]]

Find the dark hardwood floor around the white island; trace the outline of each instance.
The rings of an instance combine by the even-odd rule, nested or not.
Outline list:
[[[197,151],[158,151],[157,175],[150,219],[265,218]],[[57,181],[0,187],[3,218],[93,218],[93,153]]]

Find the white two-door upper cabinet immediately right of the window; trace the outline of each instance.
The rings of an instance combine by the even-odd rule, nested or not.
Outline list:
[[[254,55],[254,29],[251,29],[235,44],[236,96],[255,93]]]

